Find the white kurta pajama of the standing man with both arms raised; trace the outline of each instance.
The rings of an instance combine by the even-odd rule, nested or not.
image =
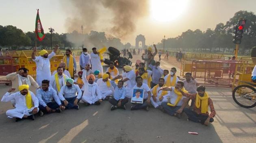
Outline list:
[[[42,85],[42,80],[49,80],[51,79],[51,63],[50,59],[55,55],[55,53],[52,51],[48,55],[48,58],[43,58],[42,56],[35,57],[33,61],[35,61],[37,65],[37,83],[39,86]]]

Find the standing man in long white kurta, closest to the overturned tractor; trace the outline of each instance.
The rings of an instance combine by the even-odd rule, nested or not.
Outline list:
[[[92,72],[99,70],[100,74],[103,75],[103,67],[101,65],[101,62],[103,62],[104,59],[102,59],[102,61],[100,60],[100,56],[96,48],[92,48],[92,50],[93,53],[91,53],[91,70]]]

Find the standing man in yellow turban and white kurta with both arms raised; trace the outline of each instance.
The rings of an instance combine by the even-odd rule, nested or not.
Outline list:
[[[59,45],[56,45],[52,53],[48,55],[47,50],[41,50],[39,52],[40,56],[35,56],[37,52],[37,48],[35,47],[33,52],[32,52],[32,59],[35,61],[37,65],[37,84],[41,86],[42,80],[50,80],[51,79],[51,63],[50,59],[55,55],[59,48]]]

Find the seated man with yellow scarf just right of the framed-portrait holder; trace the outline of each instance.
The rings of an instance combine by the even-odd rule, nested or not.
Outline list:
[[[165,79],[159,78],[158,84],[154,86],[151,89],[152,97],[150,98],[152,105],[155,108],[158,108],[159,105],[161,106],[162,102],[168,102],[168,98],[170,98],[170,92],[169,91],[159,91],[157,92],[161,87],[165,86]]]

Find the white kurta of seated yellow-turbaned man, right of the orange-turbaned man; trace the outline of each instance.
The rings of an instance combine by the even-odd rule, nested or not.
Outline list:
[[[110,79],[108,79],[109,82],[110,82]],[[106,97],[110,96],[110,95],[113,95],[114,93],[114,88],[113,86],[110,84],[110,86],[108,87],[106,84],[106,82],[104,82],[102,80],[102,78],[99,78],[97,80],[97,84],[100,88],[100,92],[101,92],[101,96],[102,96],[102,99],[105,99]]]

